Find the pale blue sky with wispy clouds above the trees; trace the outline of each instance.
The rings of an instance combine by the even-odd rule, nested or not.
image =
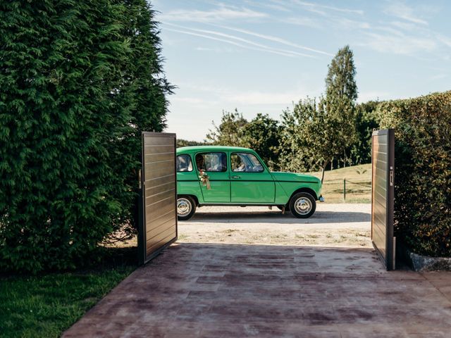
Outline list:
[[[451,1],[154,0],[164,69],[177,86],[166,131],[202,140],[222,111],[245,118],[324,92],[354,51],[358,101],[451,89]]]

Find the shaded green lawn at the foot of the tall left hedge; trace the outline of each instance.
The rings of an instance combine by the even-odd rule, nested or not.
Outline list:
[[[60,337],[137,268],[136,248],[107,250],[90,270],[0,275],[0,337]]]

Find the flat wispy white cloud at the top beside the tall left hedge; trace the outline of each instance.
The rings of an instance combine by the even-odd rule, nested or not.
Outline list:
[[[194,21],[198,23],[216,23],[224,20],[258,19],[268,16],[266,13],[252,11],[249,8],[229,8],[221,5],[211,11],[178,9],[159,15],[161,21]]]

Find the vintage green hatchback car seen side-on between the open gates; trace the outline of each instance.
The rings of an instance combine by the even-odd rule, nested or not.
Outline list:
[[[177,214],[188,220],[197,206],[276,206],[297,218],[323,201],[321,180],[271,172],[252,149],[185,146],[177,149]]]

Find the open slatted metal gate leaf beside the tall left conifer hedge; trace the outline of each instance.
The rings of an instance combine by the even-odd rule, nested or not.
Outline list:
[[[142,132],[141,173],[138,251],[140,263],[144,264],[178,236],[175,134]]]

